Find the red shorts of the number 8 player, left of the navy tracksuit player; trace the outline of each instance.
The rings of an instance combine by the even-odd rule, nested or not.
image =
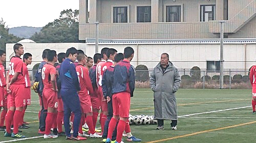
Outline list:
[[[57,92],[52,89],[44,89],[42,91],[42,102],[44,102],[44,108],[58,108],[58,97]]]

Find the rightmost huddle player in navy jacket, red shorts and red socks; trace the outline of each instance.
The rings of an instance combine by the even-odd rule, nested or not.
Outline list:
[[[108,138],[106,139],[108,143],[118,121],[116,142],[120,143],[122,141],[122,133],[129,118],[130,98],[133,96],[135,89],[135,71],[130,64],[133,56],[134,50],[132,47],[124,48],[124,60],[119,62],[114,69],[112,86],[113,118],[110,121]]]

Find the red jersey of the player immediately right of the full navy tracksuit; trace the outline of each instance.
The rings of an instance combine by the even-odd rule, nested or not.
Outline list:
[[[77,65],[76,72],[81,88],[78,95],[86,96],[89,94],[94,94],[91,78],[89,76],[89,70],[86,67],[83,67],[82,65]]]

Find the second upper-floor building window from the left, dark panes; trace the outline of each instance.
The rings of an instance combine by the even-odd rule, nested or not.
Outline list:
[[[137,7],[137,22],[151,22],[151,7]]]

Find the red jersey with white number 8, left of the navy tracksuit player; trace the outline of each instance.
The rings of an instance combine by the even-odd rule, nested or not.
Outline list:
[[[51,64],[45,64],[45,66],[42,68],[41,74],[42,74],[42,83],[44,83],[44,89],[53,89],[52,82],[51,82],[51,74],[55,74],[56,76],[56,68]]]

